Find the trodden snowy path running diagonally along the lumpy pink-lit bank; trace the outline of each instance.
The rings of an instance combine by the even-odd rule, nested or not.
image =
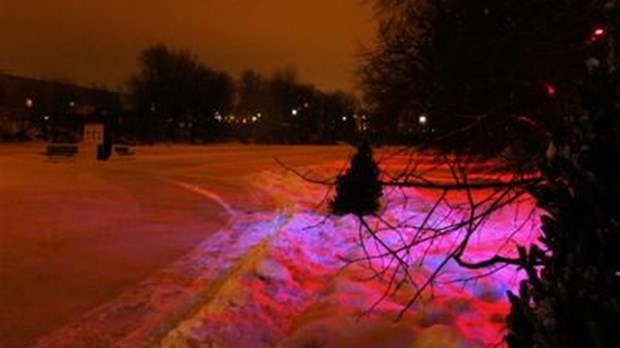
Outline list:
[[[234,221],[192,252],[34,347],[158,346],[169,330],[218,296],[252,255],[260,254],[284,219],[236,217]],[[254,233],[249,241],[241,235],[248,233]]]

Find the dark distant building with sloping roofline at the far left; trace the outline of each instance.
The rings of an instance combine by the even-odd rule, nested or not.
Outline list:
[[[114,124],[120,107],[116,92],[0,74],[1,138],[84,139],[86,124]]]

